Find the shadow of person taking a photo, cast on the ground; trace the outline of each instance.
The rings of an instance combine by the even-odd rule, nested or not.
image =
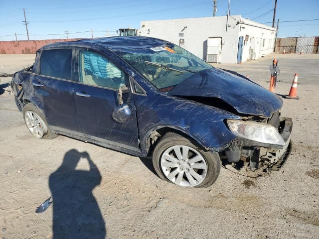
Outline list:
[[[90,171],[75,170],[80,160],[88,160]],[[92,190],[101,174],[87,152],[65,153],[61,166],[50,175],[53,199],[54,239],[104,239],[106,226]]]

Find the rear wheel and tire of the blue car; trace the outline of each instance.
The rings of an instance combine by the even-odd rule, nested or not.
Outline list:
[[[45,117],[32,103],[28,103],[23,107],[22,114],[25,125],[35,138],[53,139],[58,136],[58,134],[50,130]]]

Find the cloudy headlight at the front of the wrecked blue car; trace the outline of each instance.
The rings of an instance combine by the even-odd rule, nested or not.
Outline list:
[[[269,144],[285,145],[277,129],[266,123],[227,119],[229,129],[239,137]]]

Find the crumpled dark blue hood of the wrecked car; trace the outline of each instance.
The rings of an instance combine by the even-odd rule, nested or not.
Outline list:
[[[220,98],[240,114],[265,117],[283,105],[282,99],[260,85],[217,68],[197,72],[168,95]]]

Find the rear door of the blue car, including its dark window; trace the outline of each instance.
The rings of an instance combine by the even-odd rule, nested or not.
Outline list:
[[[74,50],[42,50],[32,79],[34,101],[51,129],[81,134],[74,101]],[[76,132],[76,133],[73,133]]]

